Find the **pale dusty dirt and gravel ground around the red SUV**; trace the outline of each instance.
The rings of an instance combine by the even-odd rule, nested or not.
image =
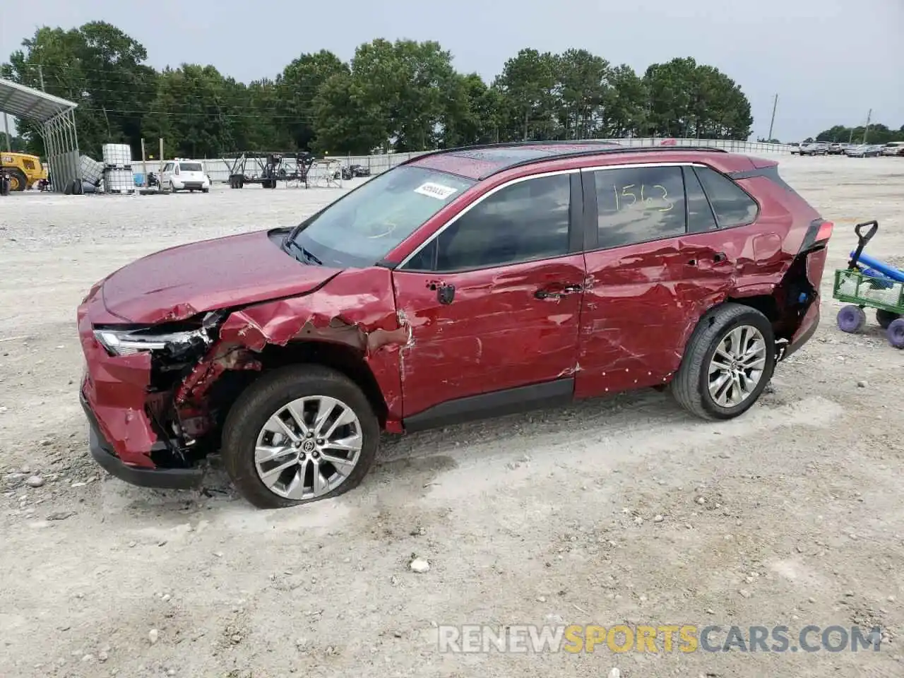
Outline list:
[[[337,189],[0,199],[0,675],[904,674],[904,351],[872,315],[841,333],[831,287],[856,221],[904,263],[904,159],[781,170],[836,230],[823,324],[748,414],[644,391],[387,438],[359,489],[277,512],[218,471],[164,493],[89,460],[75,309],[131,259]],[[886,631],[879,652],[438,651],[438,625],[561,623]]]

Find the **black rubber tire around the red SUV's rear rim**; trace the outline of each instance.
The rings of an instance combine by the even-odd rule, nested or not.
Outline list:
[[[710,365],[719,345],[741,327],[755,328],[765,343],[763,369],[749,394],[735,405],[724,406],[710,393]],[[723,304],[707,312],[694,328],[678,372],[670,385],[678,404],[701,419],[734,419],[749,410],[772,379],[776,367],[776,342],[772,324],[756,308]],[[751,372],[752,373],[752,372]]]

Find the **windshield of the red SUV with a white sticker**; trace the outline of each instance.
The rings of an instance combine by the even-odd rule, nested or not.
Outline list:
[[[307,262],[372,266],[475,183],[424,167],[396,167],[302,222],[287,246]]]

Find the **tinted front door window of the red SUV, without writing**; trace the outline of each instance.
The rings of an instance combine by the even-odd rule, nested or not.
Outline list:
[[[506,186],[439,234],[434,269],[487,268],[568,254],[570,196],[569,174]],[[417,263],[426,263],[433,247],[424,248]]]

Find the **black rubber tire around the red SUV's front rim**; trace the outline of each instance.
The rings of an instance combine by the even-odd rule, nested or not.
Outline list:
[[[268,419],[293,400],[315,396],[340,400],[353,412],[360,423],[362,447],[353,469],[334,489],[319,496],[292,499],[264,485],[255,463],[255,447]],[[223,426],[221,454],[239,493],[258,508],[273,509],[309,504],[360,485],[376,457],[379,440],[380,423],[370,401],[353,381],[321,365],[300,364],[269,372],[242,392]]]

